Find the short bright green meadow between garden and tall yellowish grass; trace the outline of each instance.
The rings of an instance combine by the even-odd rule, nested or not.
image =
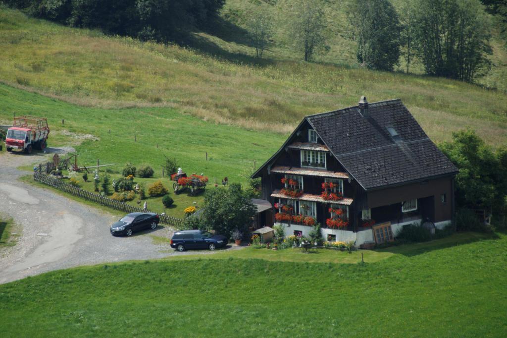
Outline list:
[[[210,183],[221,183],[225,176],[244,182],[253,161],[261,165],[283,142],[280,134],[208,123],[168,107],[80,107],[0,85],[0,121],[11,121],[14,113],[47,117],[48,145],[74,146],[80,165],[94,165],[98,158],[102,164],[117,163],[113,169],[121,170],[132,162],[151,165],[160,176],[167,155],[176,157],[187,173],[204,173]]]

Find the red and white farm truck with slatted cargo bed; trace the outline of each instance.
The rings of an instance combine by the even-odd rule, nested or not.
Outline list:
[[[5,147],[31,153],[32,149],[44,150],[49,135],[48,120],[41,117],[20,116],[14,118],[14,125],[7,130]]]

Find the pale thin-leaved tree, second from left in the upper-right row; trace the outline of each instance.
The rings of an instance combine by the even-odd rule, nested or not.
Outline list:
[[[325,16],[319,1],[297,0],[293,2],[289,20],[290,37],[298,50],[311,61],[316,52],[327,51]]]

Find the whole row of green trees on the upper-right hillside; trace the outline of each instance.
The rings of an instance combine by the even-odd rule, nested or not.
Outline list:
[[[403,56],[407,73],[417,57],[427,74],[472,82],[489,67],[488,20],[479,0],[407,0],[399,11],[389,0],[350,0],[346,6],[357,60],[375,70],[392,71]],[[291,41],[310,61],[329,49],[322,2],[295,0],[287,30]],[[267,12],[247,21],[250,40],[262,57],[273,34]],[[402,55],[403,50],[403,55]]]

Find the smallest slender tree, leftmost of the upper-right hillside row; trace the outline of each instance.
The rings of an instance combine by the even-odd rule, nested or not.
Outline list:
[[[252,10],[246,21],[248,37],[253,47],[255,47],[258,58],[262,58],[264,50],[269,45],[269,40],[273,35],[273,17],[267,9]]]

